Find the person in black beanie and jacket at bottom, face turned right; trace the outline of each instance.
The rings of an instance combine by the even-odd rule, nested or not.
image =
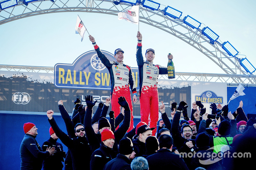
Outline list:
[[[118,150],[119,154],[104,166],[104,170],[132,170],[130,159],[134,158],[135,152],[131,139],[128,137],[121,139]]]

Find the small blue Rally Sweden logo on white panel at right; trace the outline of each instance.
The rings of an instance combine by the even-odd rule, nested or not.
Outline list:
[[[214,92],[208,90],[208,91],[204,91],[201,95],[196,95],[195,101],[201,101],[202,103],[223,104],[223,97],[217,96]]]

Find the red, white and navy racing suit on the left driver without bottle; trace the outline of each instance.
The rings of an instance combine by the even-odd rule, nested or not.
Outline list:
[[[118,98],[124,96],[129,104],[131,110],[131,123],[130,128],[127,131],[129,132],[133,129],[133,109],[129,85],[133,94],[137,92],[136,84],[132,76],[132,69],[130,66],[125,65],[124,63],[109,61],[108,58],[100,51],[97,44],[94,44],[94,49],[97,52],[101,62],[107,67],[110,73],[111,110],[115,112],[115,118],[121,113],[121,106],[118,104]]]

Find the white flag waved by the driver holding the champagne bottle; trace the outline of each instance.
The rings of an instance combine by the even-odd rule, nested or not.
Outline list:
[[[128,10],[118,12],[118,20],[125,19],[133,24],[139,24],[139,5],[134,5]]]

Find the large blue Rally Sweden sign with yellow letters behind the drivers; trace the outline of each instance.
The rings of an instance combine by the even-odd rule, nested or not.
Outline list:
[[[113,54],[101,50],[110,61]],[[132,69],[138,87],[138,69]],[[54,66],[54,85],[65,88],[109,89],[111,79],[108,69],[101,63],[95,50],[80,55],[72,64],[58,63]]]

